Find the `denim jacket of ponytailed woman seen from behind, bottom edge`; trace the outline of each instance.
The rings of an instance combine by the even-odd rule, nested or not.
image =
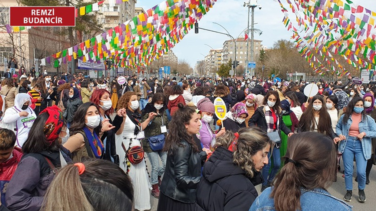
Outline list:
[[[352,206],[346,202],[332,196],[326,190],[316,188],[313,190],[300,189],[302,195],[300,196],[301,210],[314,210],[314,211],[352,211]],[[270,197],[271,188],[266,188],[262,191],[253,202],[249,211],[276,211],[274,206],[274,199]]]

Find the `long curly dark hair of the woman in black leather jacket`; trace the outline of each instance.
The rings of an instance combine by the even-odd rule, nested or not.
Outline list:
[[[172,118],[169,123],[170,133],[168,133],[166,137],[163,151],[172,154],[177,147],[183,146],[181,140],[185,140],[191,145],[194,152],[199,152],[193,137],[190,136],[185,129],[185,124],[189,124],[192,115],[196,113],[196,109],[188,105],[184,106],[182,103],[179,103],[177,106],[179,109],[174,115],[178,118]]]

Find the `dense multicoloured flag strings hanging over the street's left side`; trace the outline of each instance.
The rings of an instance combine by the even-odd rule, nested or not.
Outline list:
[[[41,65],[78,58],[97,63],[111,59],[116,67],[147,66],[180,42],[215,2],[167,0],[107,32],[41,59]]]

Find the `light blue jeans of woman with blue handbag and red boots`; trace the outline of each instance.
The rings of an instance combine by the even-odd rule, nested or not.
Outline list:
[[[162,176],[166,167],[167,153],[160,151],[146,152],[150,164],[152,164],[152,185],[158,184],[158,176]],[[159,159],[162,160],[162,166],[159,166]]]

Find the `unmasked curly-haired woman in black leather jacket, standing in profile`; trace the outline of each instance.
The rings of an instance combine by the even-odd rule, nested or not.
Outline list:
[[[195,208],[196,187],[200,181],[201,163],[209,149],[199,151],[192,135],[199,133],[201,113],[194,107],[179,103],[176,116],[170,122],[164,151],[166,170],[162,179],[158,211],[191,211]]]

